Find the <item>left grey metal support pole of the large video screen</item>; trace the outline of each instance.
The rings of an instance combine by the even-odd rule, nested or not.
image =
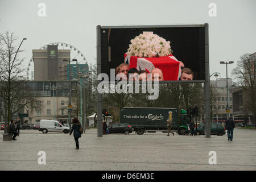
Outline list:
[[[97,26],[97,75],[101,73],[101,26]],[[101,80],[97,80],[97,85]],[[102,137],[102,95],[97,90],[97,133]]]

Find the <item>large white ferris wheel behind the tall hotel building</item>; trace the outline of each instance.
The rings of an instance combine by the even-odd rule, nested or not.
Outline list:
[[[48,45],[57,45],[58,49],[69,49],[71,60],[77,59],[78,64],[88,64],[84,54],[78,48],[76,48],[75,46],[72,46],[71,44],[55,42],[55,43],[49,43],[49,44],[41,47],[40,49],[47,49]],[[71,64],[72,64],[72,62],[71,62]],[[34,61],[33,61],[32,57],[27,65],[27,80],[34,80]]]

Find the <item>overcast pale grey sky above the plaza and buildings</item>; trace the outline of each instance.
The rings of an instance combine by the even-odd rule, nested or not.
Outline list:
[[[46,5],[46,17],[39,17],[39,3]],[[216,4],[216,17],[209,16],[210,3]],[[210,73],[226,77],[221,60],[232,60],[229,76],[243,53],[256,52],[255,0],[112,0],[55,1],[1,0],[0,33],[14,31],[27,38],[22,44],[26,57],[24,67],[32,57],[32,49],[48,43],[64,42],[78,48],[88,60],[96,63],[96,26],[169,25],[209,23]],[[175,54],[174,54],[175,55]],[[211,80],[214,77],[211,77]]]

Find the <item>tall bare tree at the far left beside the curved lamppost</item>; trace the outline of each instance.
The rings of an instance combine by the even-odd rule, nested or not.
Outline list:
[[[17,39],[14,32],[10,31],[0,35],[0,97],[6,101],[8,130],[13,115],[24,106],[34,107],[35,101],[31,90],[26,86],[23,59],[19,59],[22,51],[17,52],[15,47]]]

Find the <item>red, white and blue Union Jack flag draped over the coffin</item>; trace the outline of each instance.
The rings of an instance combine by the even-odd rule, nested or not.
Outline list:
[[[152,69],[159,68],[163,72],[164,80],[179,80],[181,76],[180,62],[173,55],[164,57],[136,57],[125,53],[125,63],[138,71],[145,70],[151,73]]]

